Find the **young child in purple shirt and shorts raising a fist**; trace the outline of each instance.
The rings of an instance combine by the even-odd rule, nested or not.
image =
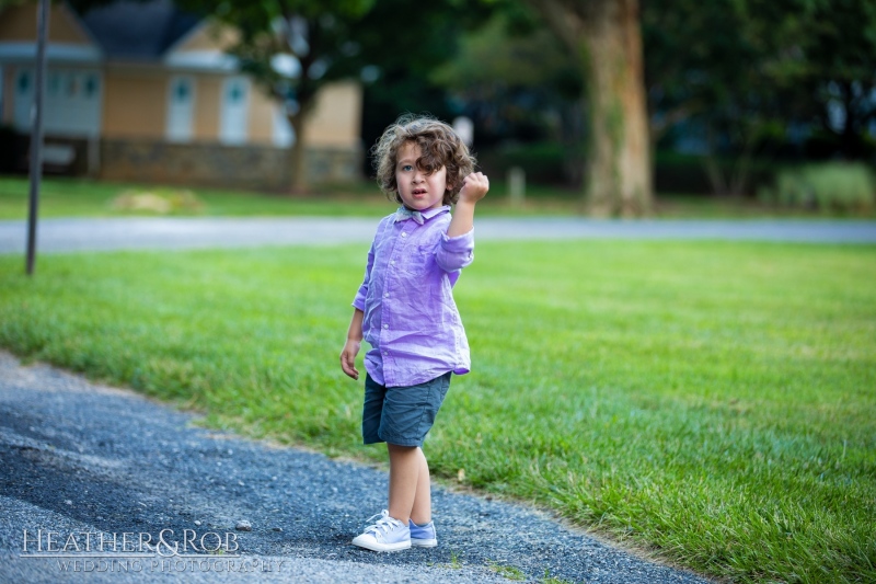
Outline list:
[[[397,551],[438,545],[422,447],[450,374],[469,373],[451,288],[474,259],[474,206],[489,182],[473,172],[474,157],[453,129],[430,117],[400,117],[372,153],[381,190],[401,206],[377,228],[341,367],[358,379],[356,355],[368,341],[362,440],[385,442],[390,456],[389,508],[353,543]]]

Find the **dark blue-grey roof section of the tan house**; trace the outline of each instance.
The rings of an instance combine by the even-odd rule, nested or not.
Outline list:
[[[200,18],[171,0],[119,0],[80,15],[110,59],[159,60]]]

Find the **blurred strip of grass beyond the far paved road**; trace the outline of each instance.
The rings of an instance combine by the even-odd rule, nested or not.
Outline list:
[[[183,188],[172,186],[119,184],[84,179],[53,179],[42,182],[39,217],[124,217],[155,216],[154,211],[119,209],[114,201],[124,193],[153,193],[165,198],[191,191],[200,202],[198,208],[173,208],[171,216],[365,216],[389,213],[393,204],[373,182],[314,186],[307,196],[264,194],[220,188]],[[27,179],[0,176],[0,220],[27,217]],[[507,186],[494,180],[489,195],[479,204],[479,216],[576,215],[584,205],[578,192],[546,185],[528,185],[527,198],[520,206],[508,199]],[[876,210],[861,211],[857,218],[874,218]],[[661,194],[655,205],[660,218],[758,218],[848,216],[819,214],[806,209],[776,209],[751,201],[722,199],[705,196]]]

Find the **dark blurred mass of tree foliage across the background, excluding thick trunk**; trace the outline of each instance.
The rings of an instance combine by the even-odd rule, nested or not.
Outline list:
[[[106,1],[70,3],[87,10]],[[615,1],[636,7],[548,4],[574,18]],[[235,53],[256,81],[295,104],[293,127],[322,83],[355,77],[365,88],[366,148],[403,112],[466,116],[485,172],[504,176],[521,167],[530,181],[569,191],[587,182],[593,124],[587,68],[538,2],[435,0],[415,9],[402,0],[175,2],[244,31]],[[803,167],[809,180],[852,173],[833,188],[865,184],[855,176],[874,184],[876,2],[638,0],[637,9],[656,192],[779,205],[798,198],[764,193],[786,191],[779,183],[788,184],[786,176]],[[269,66],[278,50],[301,62],[295,83]],[[370,161],[365,165],[370,175]],[[835,198],[856,202],[846,208],[874,204],[872,192]]]

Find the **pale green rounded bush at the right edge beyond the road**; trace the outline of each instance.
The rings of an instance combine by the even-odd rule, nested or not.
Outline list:
[[[860,162],[808,164],[779,172],[775,185],[761,187],[758,198],[783,207],[864,210],[876,203],[876,180]]]

